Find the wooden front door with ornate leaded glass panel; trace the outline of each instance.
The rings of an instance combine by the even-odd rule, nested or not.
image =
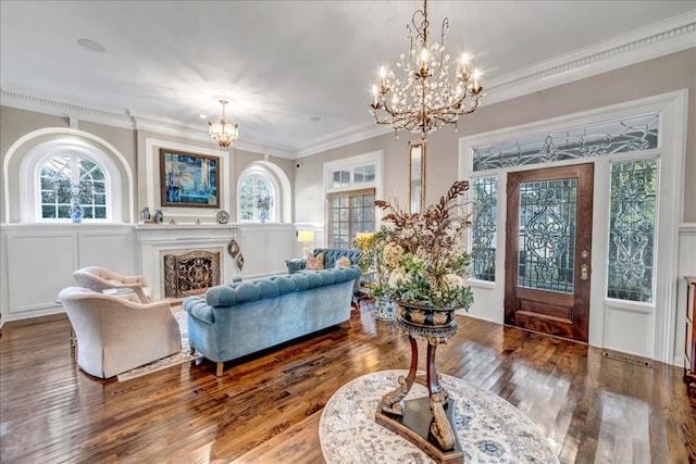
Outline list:
[[[505,323],[587,342],[594,165],[508,174]]]

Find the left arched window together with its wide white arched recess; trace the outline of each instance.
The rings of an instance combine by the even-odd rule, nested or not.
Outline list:
[[[23,150],[33,141],[38,143]],[[124,213],[126,221],[133,220],[133,178],[126,160],[108,142],[78,130],[48,128],[27,134],[8,153],[8,159],[21,156],[18,163],[5,161],[16,168],[5,171],[4,190],[20,200],[17,208],[5,199],[7,217],[16,217],[9,222],[70,222],[72,203],[82,206],[86,222],[121,223]]]

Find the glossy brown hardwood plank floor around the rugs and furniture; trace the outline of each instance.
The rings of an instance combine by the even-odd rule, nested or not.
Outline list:
[[[438,372],[524,412],[563,463],[696,462],[696,400],[682,369],[459,316]],[[286,344],[215,377],[208,361],[125,383],[85,374],[64,316],[9,323],[0,337],[0,461],[324,462],[319,419],[344,384],[409,366],[406,336],[368,306],[338,328]]]

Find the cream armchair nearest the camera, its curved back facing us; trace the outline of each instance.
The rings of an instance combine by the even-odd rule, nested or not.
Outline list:
[[[96,377],[113,377],[182,350],[166,301],[142,304],[80,287],[63,289],[59,299],[77,338],[77,364]]]

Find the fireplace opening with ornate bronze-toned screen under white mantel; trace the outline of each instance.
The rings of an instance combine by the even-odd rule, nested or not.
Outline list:
[[[220,251],[195,250],[162,258],[164,298],[201,294],[220,285]]]

